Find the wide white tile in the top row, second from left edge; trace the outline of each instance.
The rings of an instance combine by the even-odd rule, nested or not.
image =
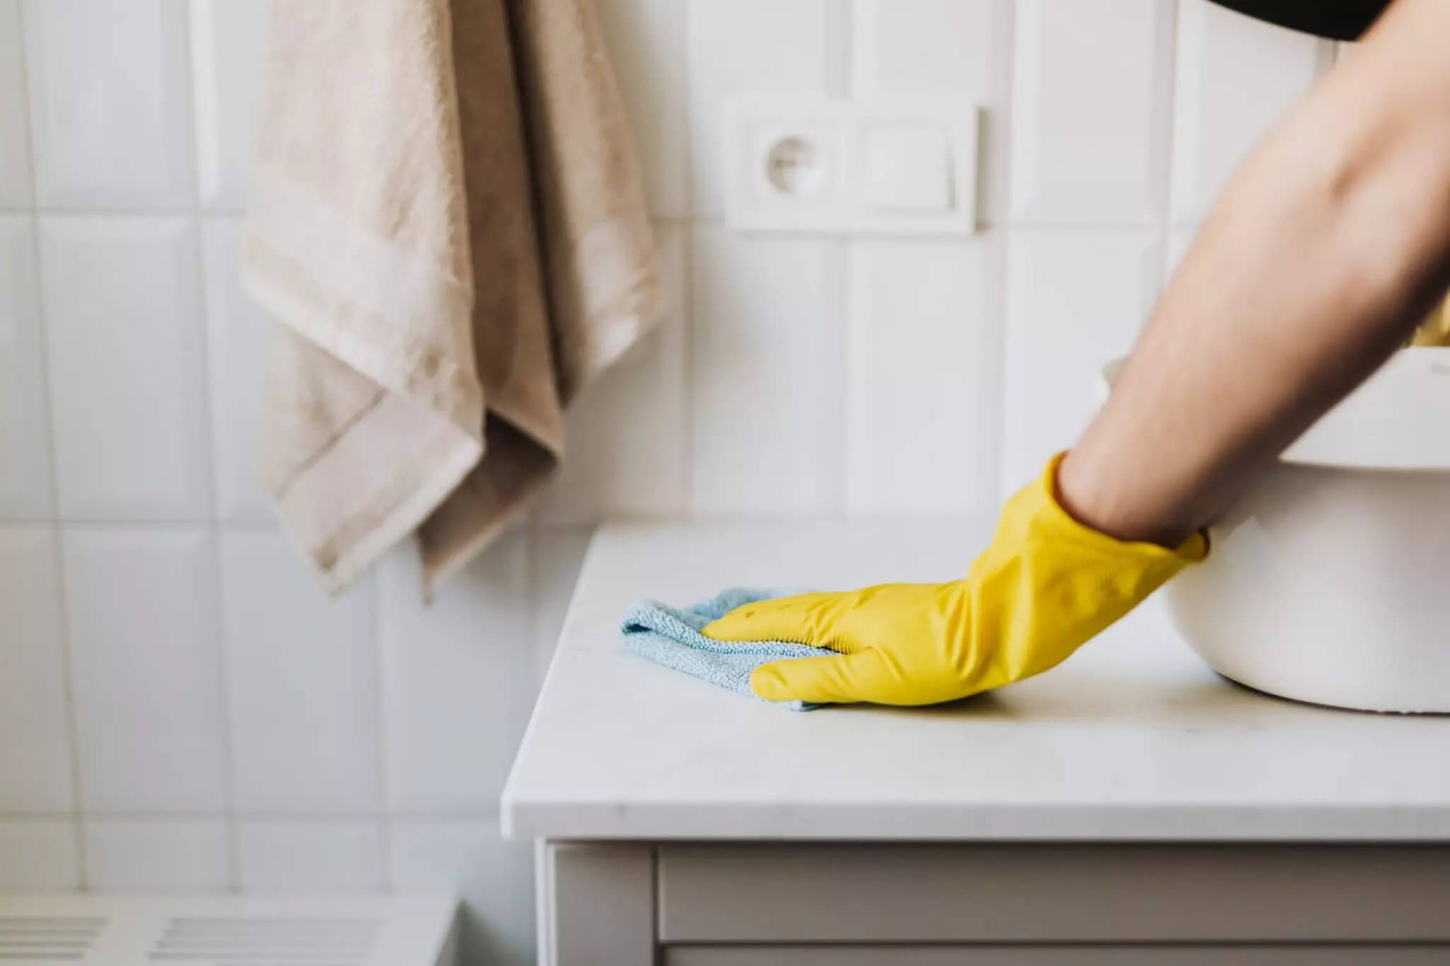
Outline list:
[[[42,206],[191,200],[184,0],[26,0]]]

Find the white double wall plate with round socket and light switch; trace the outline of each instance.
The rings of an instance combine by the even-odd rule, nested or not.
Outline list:
[[[977,112],[953,98],[731,98],[726,223],[741,232],[970,235]]]

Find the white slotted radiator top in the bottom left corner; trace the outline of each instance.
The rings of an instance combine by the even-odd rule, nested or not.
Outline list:
[[[0,966],[457,966],[451,898],[0,895]]]

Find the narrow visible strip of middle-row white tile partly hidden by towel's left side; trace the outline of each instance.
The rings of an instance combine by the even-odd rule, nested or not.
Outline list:
[[[207,219],[202,226],[215,458],[212,479],[216,484],[216,513],[222,520],[271,520],[258,456],[262,371],[271,320],[242,294],[239,236],[236,219]]]

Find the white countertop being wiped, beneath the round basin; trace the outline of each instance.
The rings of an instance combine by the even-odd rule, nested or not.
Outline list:
[[[792,713],[619,643],[631,601],[950,579],[961,523],[610,526],[503,792],[512,837],[1450,840],[1450,717],[1214,675],[1150,602],[1067,663],[935,708]]]

